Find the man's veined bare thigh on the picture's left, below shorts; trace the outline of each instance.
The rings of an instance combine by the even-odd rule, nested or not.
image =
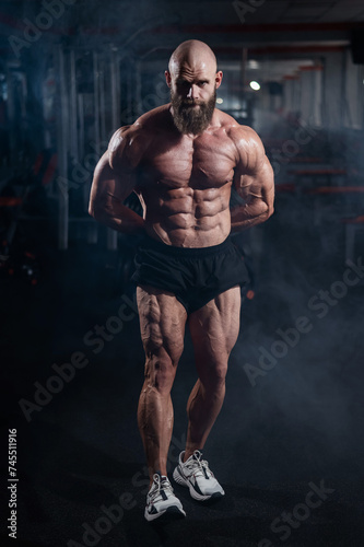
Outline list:
[[[165,357],[177,363],[184,349],[187,312],[171,293],[137,287],[140,333],[146,358]]]

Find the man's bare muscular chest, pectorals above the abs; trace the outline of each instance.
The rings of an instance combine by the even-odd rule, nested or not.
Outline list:
[[[142,185],[216,188],[232,181],[235,164],[234,144],[225,133],[157,138],[143,162]]]

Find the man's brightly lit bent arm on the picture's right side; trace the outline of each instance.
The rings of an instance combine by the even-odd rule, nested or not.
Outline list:
[[[243,129],[243,128],[242,128]],[[274,175],[258,135],[244,128],[244,137],[235,141],[238,162],[234,187],[243,203],[231,210],[232,232],[265,222],[273,214]]]

